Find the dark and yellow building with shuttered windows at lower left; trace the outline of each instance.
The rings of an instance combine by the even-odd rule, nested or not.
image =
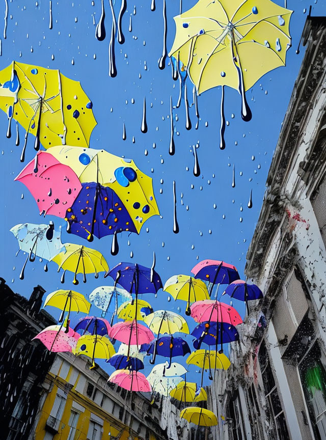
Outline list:
[[[193,438],[171,399],[130,393],[108,382],[88,357],[51,353],[39,340],[56,324],[42,306],[45,290],[30,299],[0,278],[0,438],[4,440],[165,440]]]

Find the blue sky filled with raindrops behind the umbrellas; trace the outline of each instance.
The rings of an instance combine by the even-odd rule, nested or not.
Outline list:
[[[156,1],[154,12],[150,10],[150,1],[137,4],[135,14],[134,4],[129,0],[122,20],[125,43],[120,45],[116,42],[115,45],[118,70],[115,78],[108,76],[111,14],[106,0],[106,38],[101,42],[95,38],[93,24],[93,17],[95,23],[100,17],[100,0],[52,2],[51,30],[49,2],[40,0],[24,3],[25,6],[16,0],[9,3],[7,38],[2,38],[0,68],[5,68],[15,60],[60,69],[64,75],[79,80],[93,102],[93,112],[98,123],[91,135],[90,147],[103,148],[116,155],[130,157],[143,172],[153,178],[154,194],[162,218],[150,218],[139,236],[128,236],[127,233],[119,236],[120,252],[116,257],[110,254],[111,237],[101,240],[95,238],[91,246],[103,253],[110,267],[119,261],[129,260],[150,266],[155,251],[156,270],[163,283],[173,274],[189,274],[192,267],[205,258],[232,263],[243,277],[245,256],[258,219],[270,161],[304,54],[302,48],[297,55],[295,48],[307,16],[304,10],[306,8],[308,11],[310,3],[305,0],[287,2],[287,7],[294,9],[290,23],[293,46],[288,50],[287,66],[267,73],[247,92],[253,113],[251,122],[241,120],[239,94],[235,90],[226,89],[225,115],[229,125],[225,133],[226,148],[221,151],[220,88],[207,91],[199,97],[201,119],[198,130],[194,128],[194,106],[189,109],[193,129],[185,129],[182,102],[180,108],[174,111],[174,118],[178,117],[178,121],[174,121],[174,156],[169,156],[168,153],[168,115],[170,95],[174,103],[178,98],[178,82],[171,77],[168,60],[164,70],[159,70],[157,66],[162,51],[162,0]],[[284,6],[281,0],[276,3]],[[183,0],[182,4],[182,10],[185,11],[195,2]],[[120,4],[117,6],[119,9]],[[316,0],[312,15],[324,15],[325,12],[322,2],[317,3]],[[167,2],[168,50],[172,46],[175,33],[173,16],[178,13],[179,2]],[[128,31],[130,16],[132,32]],[[148,132],[145,134],[140,129],[144,97],[147,101],[148,124]],[[191,102],[191,89],[188,99]],[[132,100],[134,103],[131,103]],[[122,140],[123,123],[126,125],[126,141]],[[24,132],[19,128],[22,144]],[[21,145],[15,146],[15,135],[6,139],[7,117],[4,113],[0,115],[0,130],[3,132],[0,147],[0,197],[3,206],[0,219],[0,276],[6,279],[14,291],[24,296],[29,296],[37,284],[51,292],[62,287],[55,263],[49,264],[47,273],[43,271],[43,263],[30,263],[25,270],[25,279],[19,280],[25,257],[22,254],[15,257],[18,245],[9,229],[17,223],[44,223],[44,219],[39,216],[36,202],[29,191],[21,183],[13,181],[22,169],[19,161]],[[132,136],[135,143],[132,143]],[[191,150],[198,141],[201,175],[194,177],[194,156]],[[34,157],[33,145],[34,139],[30,136],[25,163]],[[234,188],[231,185],[233,167]],[[176,181],[177,218],[180,227],[177,235],[172,231],[173,180]],[[251,190],[253,207],[249,209],[247,204]],[[49,216],[46,219],[52,219],[56,228],[64,225],[57,217]],[[68,235],[64,229],[65,227],[62,234],[64,242],[86,244],[79,237]],[[67,288],[72,287],[71,281],[72,274],[67,274]],[[78,290],[87,296],[96,286],[106,284],[111,284],[111,280],[103,280],[101,276],[94,280],[89,276],[87,284],[81,282]],[[178,312],[177,307],[181,307],[184,310],[184,304],[168,302],[168,295],[162,291],[156,299],[154,295],[147,296],[144,299],[154,309],[168,308]],[[242,312],[241,308],[239,310]],[[57,316],[55,309],[50,312]],[[94,313],[96,312],[97,309],[94,309]]]

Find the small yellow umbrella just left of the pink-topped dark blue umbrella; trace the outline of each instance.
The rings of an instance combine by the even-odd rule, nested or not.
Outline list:
[[[188,275],[174,275],[165,283],[163,290],[170,293],[174,299],[187,301],[185,314],[191,314],[190,304],[201,299],[209,299],[206,284]]]

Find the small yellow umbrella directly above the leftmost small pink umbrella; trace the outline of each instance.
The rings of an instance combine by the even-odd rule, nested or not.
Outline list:
[[[55,290],[47,295],[44,301],[45,306],[56,307],[62,310],[59,322],[63,320],[63,315],[68,309],[68,320],[70,312],[89,313],[91,305],[81,293],[74,290]]]

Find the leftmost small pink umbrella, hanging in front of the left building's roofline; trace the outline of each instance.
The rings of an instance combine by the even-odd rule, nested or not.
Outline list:
[[[76,347],[77,340],[80,338],[72,328],[68,327],[68,333],[65,333],[65,327],[62,325],[50,325],[35,336],[33,339],[39,339],[45,347],[53,352],[70,351]]]

